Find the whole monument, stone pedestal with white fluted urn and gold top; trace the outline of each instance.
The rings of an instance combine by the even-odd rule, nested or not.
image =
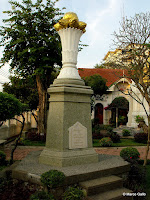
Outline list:
[[[69,12],[55,24],[62,43],[62,69],[48,88],[50,106],[46,147],[39,162],[66,167],[98,162],[92,146],[90,96],[76,67],[78,44],[86,23]]]

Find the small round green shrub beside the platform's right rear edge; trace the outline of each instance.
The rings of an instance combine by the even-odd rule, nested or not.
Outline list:
[[[136,148],[127,147],[121,150],[120,156],[128,162],[132,162],[132,161],[137,161],[139,159],[140,153]]]

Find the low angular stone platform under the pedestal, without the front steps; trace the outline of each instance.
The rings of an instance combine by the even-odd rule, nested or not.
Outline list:
[[[20,163],[12,170],[12,176],[24,181],[40,183],[42,173],[49,170],[59,170],[66,175],[66,184],[75,184],[81,181],[94,179],[108,175],[120,175],[129,171],[130,164],[124,161],[120,156],[98,155],[98,162],[91,164],[75,165],[68,167],[55,167],[40,164],[38,161],[41,151],[29,153]],[[38,181],[39,180],[39,181]]]

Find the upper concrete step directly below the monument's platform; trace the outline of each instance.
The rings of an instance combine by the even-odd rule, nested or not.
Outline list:
[[[118,176],[106,176],[79,183],[86,190],[87,195],[94,195],[110,191],[123,186],[122,178]]]

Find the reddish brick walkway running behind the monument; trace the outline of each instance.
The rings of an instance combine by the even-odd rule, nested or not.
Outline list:
[[[44,147],[36,146],[18,146],[14,153],[14,160],[22,160],[32,151],[43,150]],[[107,154],[107,155],[120,155],[120,151],[125,147],[109,147],[109,148],[95,148],[95,151],[98,154]],[[140,158],[144,159],[146,147],[135,147],[140,153]],[[4,152],[6,153],[6,159],[10,159],[12,146],[8,144],[5,146]],[[150,152],[148,154],[148,159],[150,159]]]

